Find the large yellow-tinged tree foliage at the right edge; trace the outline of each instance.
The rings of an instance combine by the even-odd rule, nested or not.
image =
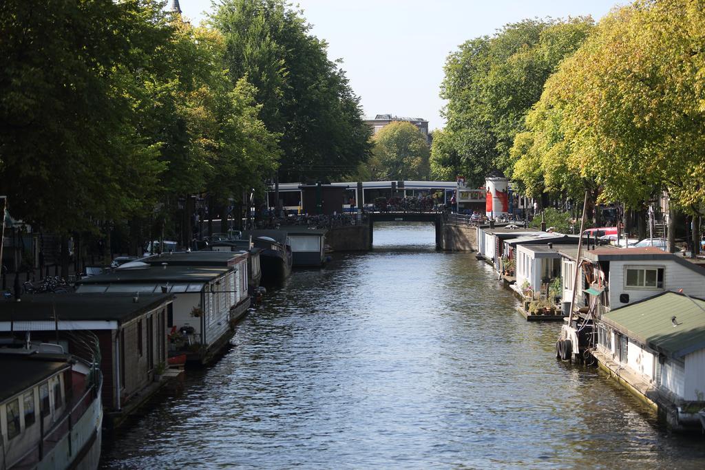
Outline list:
[[[517,176],[549,190],[594,179],[603,201],[632,208],[661,190],[682,208],[702,204],[704,6],[639,1],[601,20],[546,82],[522,137],[532,143],[515,140]]]

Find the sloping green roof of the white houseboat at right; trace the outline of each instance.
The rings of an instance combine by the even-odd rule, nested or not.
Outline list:
[[[705,348],[705,300],[676,292],[615,309],[603,315],[602,321],[672,357]]]

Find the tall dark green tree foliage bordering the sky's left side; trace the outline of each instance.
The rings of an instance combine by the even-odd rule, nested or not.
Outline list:
[[[211,18],[231,79],[255,85],[266,128],[281,134],[281,180],[336,178],[367,159],[360,100],[327,44],[284,0],[223,0]]]

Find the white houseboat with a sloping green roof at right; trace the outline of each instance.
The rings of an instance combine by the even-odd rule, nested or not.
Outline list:
[[[675,431],[705,431],[705,300],[661,292],[604,314],[593,352]]]

